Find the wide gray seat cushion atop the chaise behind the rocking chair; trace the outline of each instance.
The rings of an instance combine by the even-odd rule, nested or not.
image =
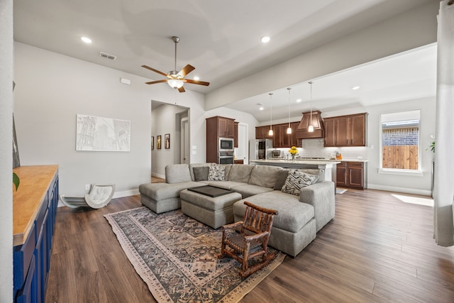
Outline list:
[[[314,218],[314,206],[299,202],[298,197],[278,190],[256,194],[236,202],[233,204],[235,216],[244,217],[245,201],[267,209],[277,210],[278,214],[274,217],[272,226],[292,233],[299,231]]]

